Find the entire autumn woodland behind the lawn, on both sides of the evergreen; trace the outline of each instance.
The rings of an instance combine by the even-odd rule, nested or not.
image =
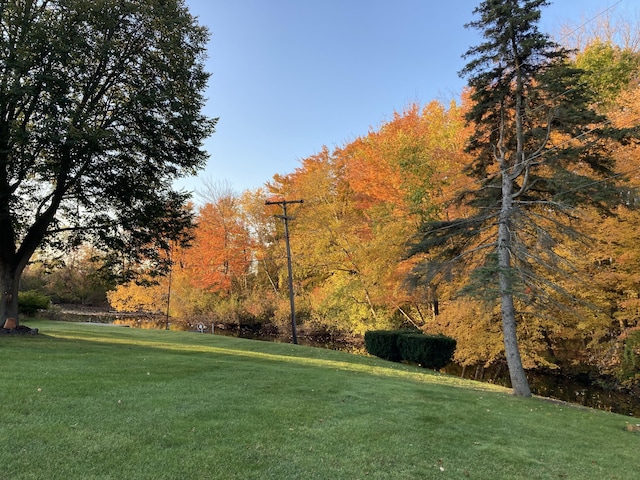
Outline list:
[[[637,125],[636,26],[574,30],[563,42],[577,49],[574,62],[585,72],[585,88],[597,94],[598,111],[612,125]],[[463,367],[501,365],[499,308],[477,295],[461,295],[468,278],[410,281],[415,267],[428,260],[426,254],[407,254],[420,226],[472,213],[458,201],[475,181],[465,170],[472,126],[464,116],[470,107],[469,92],[449,104],[408,105],[367,135],[323,148],[255,191],[236,193],[210,182],[193,207],[198,222],[191,245],[172,249],[170,275],[115,286],[105,279],[99,256],[81,248],[58,263],[42,254],[25,272],[22,290],[81,304],[100,303],[108,291],[118,311],[286,335],[287,255],[277,217],[282,211],[265,201],[303,200],[288,211],[303,334],[358,339],[371,329],[414,327],[455,338],[455,360]],[[558,298],[542,311],[536,304],[535,315],[519,323],[519,338],[526,368],[586,366],[631,387],[640,382],[640,151],[627,144],[615,157],[615,180],[628,194],[612,211],[572,212],[572,227],[585,237],[553,246],[571,260],[573,274],[553,280],[572,300]],[[522,312],[527,293],[519,297]]]

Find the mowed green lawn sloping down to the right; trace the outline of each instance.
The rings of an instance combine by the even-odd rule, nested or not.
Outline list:
[[[1,479],[633,479],[640,419],[298,345],[29,321]]]

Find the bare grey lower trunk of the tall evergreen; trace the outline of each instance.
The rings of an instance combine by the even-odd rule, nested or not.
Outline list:
[[[500,312],[502,313],[502,337],[507,357],[513,394],[530,397],[531,390],[520,358],[516,332],[516,312],[513,303],[513,272],[511,268],[511,212],[513,183],[508,172],[502,171],[502,208],[498,224],[498,275],[500,281]]]

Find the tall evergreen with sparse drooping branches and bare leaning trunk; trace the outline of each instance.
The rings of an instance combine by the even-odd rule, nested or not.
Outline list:
[[[611,146],[629,131],[613,129],[580,85],[570,52],[538,29],[546,0],[486,0],[475,10],[484,41],[471,48],[468,78],[474,127],[468,144],[474,187],[459,199],[470,214],[425,223],[412,253],[432,261],[416,274],[430,281],[462,267],[467,293],[499,301],[504,348],[518,396],[531,392],[523,368],[517,320],[560,292],[553,278],[568,267],[558,253],[574,207],[606,209],[615,199]],[[437,252],[437,255],[435,253]],[[557,278],[557,277],[556,277]],[[475,285],[474,285],[474,282]]]

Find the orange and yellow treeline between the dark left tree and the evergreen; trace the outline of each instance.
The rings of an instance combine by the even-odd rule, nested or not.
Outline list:
[[[464,181],[463,107],[409,106],[379,130],[301,161],[263,189],[234,194],[209,185],[188,248],[175,247],[171,277],[109,293],[114,308],[290,330],[282,210],[287,214],[301,331],[361,336],[370,329],[433,322],[439,294],[407,284],[419,259],[407,243]],[[454,208],[454,207],[450,207]],[[171,299],[167,302],[171,280]]]

